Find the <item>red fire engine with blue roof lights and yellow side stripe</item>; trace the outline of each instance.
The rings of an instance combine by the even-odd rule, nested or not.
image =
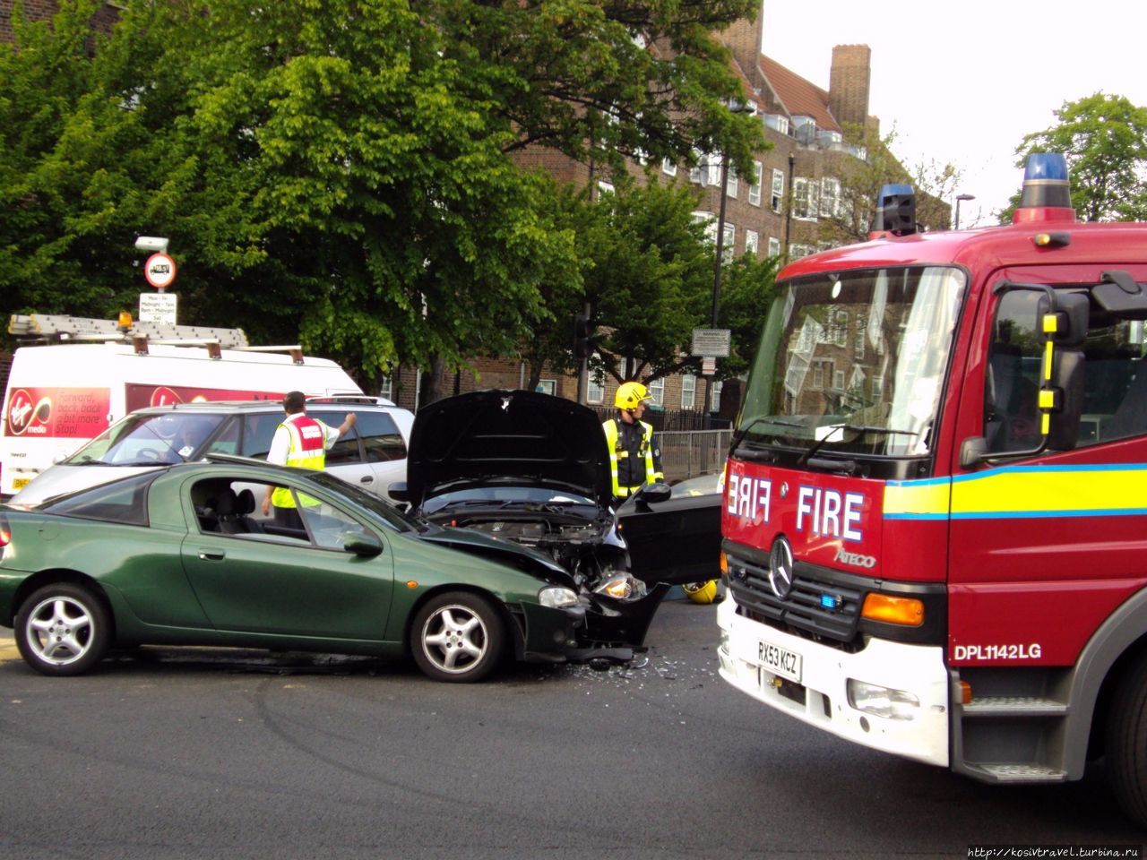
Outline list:
[[[780,274],[721,515],[720,674],[986,782],[1106,756],[1147,824],[1147,224],[1080,224],[1062,156],[1014,222]]]

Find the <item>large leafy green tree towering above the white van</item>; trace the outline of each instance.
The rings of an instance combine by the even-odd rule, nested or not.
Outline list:
[[[18,24],[0,56],[6,312],[130,306],[124,249],[153,233],[184,321],[301,337],[364,377],[457,367],[578,289],[572,234],[512,154],[759,143],[708,36],[744,0],[131,0],[106,40],[95,6]]]

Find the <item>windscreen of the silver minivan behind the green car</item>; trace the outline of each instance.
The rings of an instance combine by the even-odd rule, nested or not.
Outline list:
[[[159,466],[190,460],[225,415],[127,415],[64,460],[69,466]]]

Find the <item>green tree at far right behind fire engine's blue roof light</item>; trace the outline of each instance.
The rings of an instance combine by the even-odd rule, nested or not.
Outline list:
[[[1031,153],[1062,153],[1071,203],[1082,221],[1147,218],[1147,109],[1122,95],[1094,93],[1053,111],[1056,124],[1032,132],[1016,147],[1016,166]],[[1000,212],[1011,224],[1020,194]]]

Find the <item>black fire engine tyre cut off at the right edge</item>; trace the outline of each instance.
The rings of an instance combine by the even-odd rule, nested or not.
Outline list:
[[[1107,775],[1111,791],[1141,827],[1147,827],[1147,655],[1119,681],[1107,717]]]

